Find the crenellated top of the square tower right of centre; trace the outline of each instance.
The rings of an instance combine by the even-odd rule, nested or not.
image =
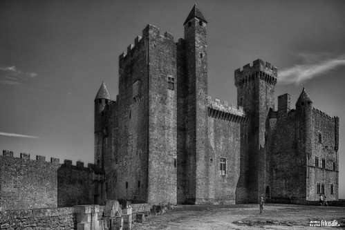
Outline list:
[[[261,79],[268,84],[277,84],[277,67],[269,62],[257,59],[253,61],[252,66],[246,64],[243,70],[238,68],[235,70],[235,86],[243,87],[249,82]]]

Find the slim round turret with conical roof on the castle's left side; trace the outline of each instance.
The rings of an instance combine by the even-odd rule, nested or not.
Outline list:
[[[104,113],[104,108],[110,101],[109,92],[106,90],[104,82],[102,82],[95,97],[95,164],[100,168],[104,167],[104,116],[102,113]]]

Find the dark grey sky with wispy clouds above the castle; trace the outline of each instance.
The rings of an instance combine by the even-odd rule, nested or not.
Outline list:
[[[0,148],[93,163],[93,100],[118,95],[118,57],[147,24],[183,37],[194,3],[207,19],[208,92],[236,104],[234,70],[278,68],[276,97],[303,87],[340,119],[345,198],[345,1],[0,1]],[[276,104],[277,106],[277,104]]]

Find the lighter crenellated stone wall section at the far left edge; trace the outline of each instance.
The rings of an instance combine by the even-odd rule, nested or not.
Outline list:
[[[30,160],[30,154],[3,151],[0,156],[0,209],[29,209],[57,207],[58,161],[37,155]]]

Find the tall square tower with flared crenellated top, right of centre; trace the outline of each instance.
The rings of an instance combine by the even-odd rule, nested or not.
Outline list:
[[[274,86],[277,84],[277,68],[261,59],[253,65],[243,66],[243,70],[235,70],[237,87],[237,104],[243,106],[248,116],[247,128],[241,132],[248,133],[248,201],[257,202],[259,196],[265,195],[268,186],[266,162],[269,157],[265,151],[266,120],[270,108],[274,109]]]

